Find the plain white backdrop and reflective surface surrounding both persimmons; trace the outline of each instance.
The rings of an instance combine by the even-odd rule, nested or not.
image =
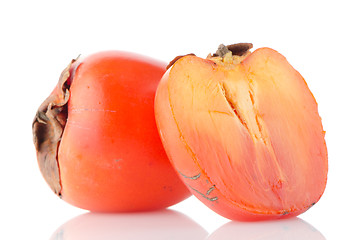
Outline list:
[[[361,10],[357,0],[1,1],[0,239],[362,239]],[[172,211],[82,215],[51,192],[31,122],[72,58],[119,49],[168,62],[237,42],[282,53],[317,99],[329,175],[312,209],[228,223],[191,197]]]

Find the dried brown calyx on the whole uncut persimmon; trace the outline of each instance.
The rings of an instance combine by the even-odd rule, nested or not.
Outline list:
[[[68,116],[69,81],[76,59],[63,70],[51,95],[40,105],[33,120],[33,141],[41,173],[50,188],[61,197],[58,147]]]

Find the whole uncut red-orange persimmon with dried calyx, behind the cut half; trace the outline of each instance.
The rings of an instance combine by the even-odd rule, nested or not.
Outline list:
[[[91,211],[155,210],[187,198],[157,132],[163,62],[105,51],[73,60],[37,111],[40,170],[66,202]]]

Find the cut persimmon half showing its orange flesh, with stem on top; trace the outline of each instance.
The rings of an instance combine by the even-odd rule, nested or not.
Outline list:
[[[156,92],[165,150],[191,192],[233,220],[296,216],[322,196],[325,132],[303,77],[270,48],[178,57]]]

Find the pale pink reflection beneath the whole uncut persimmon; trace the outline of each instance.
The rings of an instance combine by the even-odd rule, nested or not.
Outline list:
[[[167,209],[132,214],[86,213],[60,226],[50,240],[200,240],[207,235],[186,215]]]

